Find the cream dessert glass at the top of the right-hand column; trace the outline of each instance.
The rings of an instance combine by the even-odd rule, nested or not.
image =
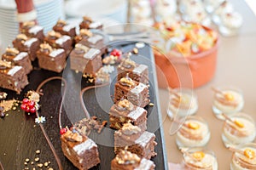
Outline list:
[[[222,114],[231,116],[242,110],[244,99],[240,89],[218,88],[214,91],[212,111],[218,119],[224,120]]]

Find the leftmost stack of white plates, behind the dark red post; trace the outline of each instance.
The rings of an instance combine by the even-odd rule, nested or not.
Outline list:
[[[65,19],[63,0],[34,0],[38,12],[38,25],[44,33],[52,29],[57,20]],[[11,45],[19,32],[15,0],[0,0],[0,47]]]

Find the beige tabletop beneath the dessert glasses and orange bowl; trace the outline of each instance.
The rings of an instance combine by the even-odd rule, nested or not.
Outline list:
[[[218,159],[218,169],[230,169],[232,153],[224,147],[221,139],[223,121],[218,120],[212,112],[213,92],[212,87],[235,86],[241,88],[244,94],[245,106],[243,111],[253,116],[256,121],[256,58],[254,55],[256,42],[256,18],[251,9],[243,1],[233,0],[235,8],[243,16],[243,26],[237,37],[220,37],[218,49],[218,64],[215,77],[206,85],[196,88],[195,93],[199,100],[199,110],[196,115],[202,116],[208,122],[211,130],[211,139],[207,148],[214,151]],[[166,89],[160,89],[160,104],[162,110],[163,127],[166,138],[168,161],[180,163],[182,153],[175,144],[175,135],[169,134],[172,122],[167,116]]]

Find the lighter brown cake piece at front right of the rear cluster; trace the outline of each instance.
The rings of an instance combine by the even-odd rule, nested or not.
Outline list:
[[[102,67],[101,52],[77,43],[70,54],[70,66],[74,71],[95,75]]]

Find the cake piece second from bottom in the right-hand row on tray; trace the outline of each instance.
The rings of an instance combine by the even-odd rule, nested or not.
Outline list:
[[[137,156],[150,159],[156,156],[154,146],[157,143],[154,139],[154,133],[143,132],[140,127],[128,122],[119,131],[114,132],[114,152],[118,154],[121,150],[126,149]]]

